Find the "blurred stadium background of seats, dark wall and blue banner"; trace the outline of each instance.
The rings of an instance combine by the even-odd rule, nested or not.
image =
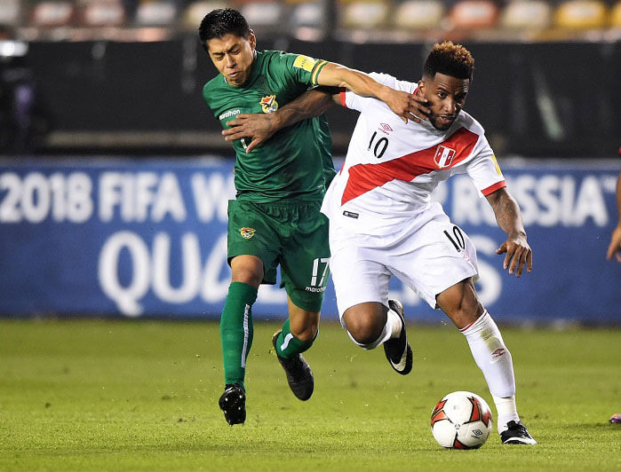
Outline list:
[[[621,1],[0,0],[0,314],[218,318],[234,155],[203,103],[203,15],[240,9],[259,49],[418,80],[431,44],[473,51],[466,103],[520,202],[535,271],[514,280],[467,179],[440,189],[507,323],[617,325]],[[337,165],[356,114],[329,112]],[[261,289],[258,317],[283,317]],[[395,283],[412,320],[437,321]],[[336,319],[333,290],[324,317]],[[497,314],[498,313],[498,314]]]

